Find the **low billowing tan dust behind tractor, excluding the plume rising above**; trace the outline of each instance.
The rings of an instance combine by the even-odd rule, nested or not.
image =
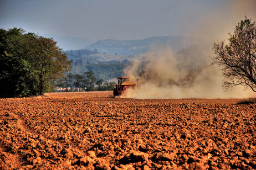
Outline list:
[[[149,60],[144,72],[141,72],[139,91],[129,89],[122,97],[138,99],[253,97],[250,95],[252,92],[243,91],[243,87],[224,92],[222,77],[217,67],[209,66],[206,60],[186,60],[182,55],[172,54],[170,49],[146,56]],[[135,78],[139,77],[136,68],[140,65],[141,62],[136,61],[133,66],[125,70],[127,75],[134,78],[134,82]]]

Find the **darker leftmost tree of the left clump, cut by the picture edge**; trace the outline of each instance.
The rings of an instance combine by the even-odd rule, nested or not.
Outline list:
[[[21,57],[28,50],[22,29],[0,30],[0,97],[14,97],[36,92],[32,66]]]

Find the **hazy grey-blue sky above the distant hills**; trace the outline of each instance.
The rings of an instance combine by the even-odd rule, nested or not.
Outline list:
[[[230,20],[238,23],[244,15],[255,18],[254,2],[256,0],[1,0],[0,26],[91,40],[145,39],[186,35],[212,18],[212,22],[218,22],[216,25]]]

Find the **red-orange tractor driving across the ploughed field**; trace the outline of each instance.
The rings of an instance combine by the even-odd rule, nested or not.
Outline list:
[[[120,95],[124,92],[127,88],[134,88],[136,84],[130,81],[129,77],[117,77],[118,83],[114,87],[113,93],[114,97],[116,95]],[[139,79],[137,79],[138,81]],[[137,82],[138,83],[138,82]],[[138,87],[139,88],[139,87]]]

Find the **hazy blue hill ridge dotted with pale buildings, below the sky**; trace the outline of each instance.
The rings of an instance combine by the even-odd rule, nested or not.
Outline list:
[[[94,44],[84,47],[83,49],[98,49],[100,53],[118,54],[118,55],[139,55],[149,52],[152,46],[170,46],[173,51],[177,52],[186,47],[190,47],[195,40],[184,38],[182,36],[154,36],[143,40],[99,40]]]

